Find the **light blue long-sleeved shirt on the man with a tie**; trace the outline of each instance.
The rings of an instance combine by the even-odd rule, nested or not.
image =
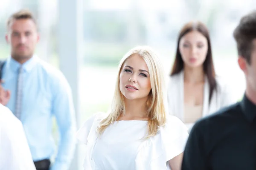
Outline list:
[[[6,105],[15,113],[17,77],[20,63],[9,57],[3,67],[2,86],[11,91]],[[76,122],[70,86],[64,75],[38,57],[23,64],[22,110],[20,121],[34,161],[55,154],[52,116],[59,130],[58,150],[51,170],[68,170],[76,145]],[[18,142],[18,141],[17,141]]]

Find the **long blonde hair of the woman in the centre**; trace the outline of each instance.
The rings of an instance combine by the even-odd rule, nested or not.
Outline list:
[[[116,88],[113,96],[112,107],[110,114],[103,119],[97,127],[97,132],[101,135],[104,130],[113,122],[118,121],[119,118],[125,114],[125,102],[124,96],[119,88],[119,75],[122,70],[124,62],[133,54],[138,54],[142,57],[148,66],[149,77],[151,80],[151,91],[148,94],[148,100],[146,103],[148,114],[148,135],[146,139],[151,136],[155,136],[159,130],[159,127],[166,123],[166,101],[164,95],[165,82],[163,76],[163,66],[157,57],[157,55],[147,46],[137,46],[122,57],[116,81]]]

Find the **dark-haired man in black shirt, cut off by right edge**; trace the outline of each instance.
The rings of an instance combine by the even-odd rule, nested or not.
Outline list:
[[[233,36],[246,78],[244,98],[195,123],[182,170],[256,170],[256,11],[241,18]]]

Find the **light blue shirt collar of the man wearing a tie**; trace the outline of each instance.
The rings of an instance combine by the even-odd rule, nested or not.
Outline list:
[[[34,66],[36,65],[37,61],[38,61],[37,56],[31,57],[29,60],[27,60],[26,62],[24,62],[22,64],[23,71],[25,71],[25,72],[31,71],[32,68],[34,68]],[[6,64],[14,72],[17,72],[21,66],[21,64],[19,62],[17,62],[15,59],[13,59],[12,57],[7,58]]]

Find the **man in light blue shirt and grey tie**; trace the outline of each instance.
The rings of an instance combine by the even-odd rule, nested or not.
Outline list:
[[[18,11],[7,23],[11,56],[2,70],[0,102],[23,124],[37,170],[68,170],[76,145],[75,113],[70,86],[61,71],[34,55],[39,40],[36,20]],[[55,162],[52,116],[59,130]]]

